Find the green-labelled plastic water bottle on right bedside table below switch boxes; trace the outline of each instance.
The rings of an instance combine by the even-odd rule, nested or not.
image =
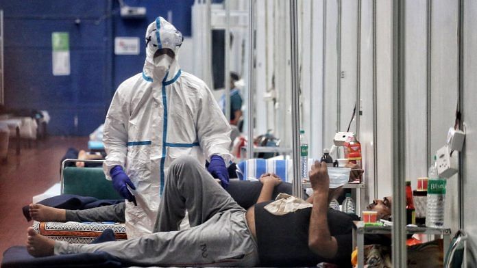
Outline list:
[[[444,225],[445,184],[447,181],[439,178],[436,159],[436,156],[434,156],[434,163],[429,167],[426,226],[442,228]]]

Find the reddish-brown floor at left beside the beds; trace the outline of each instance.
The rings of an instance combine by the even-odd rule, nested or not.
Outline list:
[[[87,143],[88,137],[49,136],[32,142],[30,148],[22,144],[21,154],[16,155],[12,142],[8,161],[0,163],[0,261],[8,247],[25,245],[32,222],[23,217],[22,206],[60,182],[60,161],[66,149],[87,148]]]

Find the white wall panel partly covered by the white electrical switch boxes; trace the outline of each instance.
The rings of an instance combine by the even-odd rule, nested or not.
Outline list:
[[[432,1],[431,14],[431,93],[430,152],[445,145],[458,93],[458,1]],[[458,229],[457,176],[448,180],[445,200],[445,225]]]

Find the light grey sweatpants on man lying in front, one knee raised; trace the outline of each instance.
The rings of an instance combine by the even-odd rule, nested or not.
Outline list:
[[[191,228],[178,230],[187,209]],[[55,254],[108,252],[125,263],[160,266],[245,266],[258,263],[245,210],[198,161],[181,157],[169,167],[156,232],[99,244],[55,242]]]

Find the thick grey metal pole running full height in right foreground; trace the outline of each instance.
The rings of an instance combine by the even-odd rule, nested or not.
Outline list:
[[[393,0],[393,267],[407,266],[404,124],[404,1]]]

